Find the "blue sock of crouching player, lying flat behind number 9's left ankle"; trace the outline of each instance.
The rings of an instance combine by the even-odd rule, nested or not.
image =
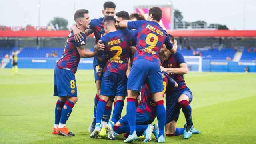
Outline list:
[[[141,136],[143,132],[148,128],[148,125],[136,125],[136,134]],[[122,126],[114,126],[114,131],[118,134],[129,134],[130,126],[128,124]]]

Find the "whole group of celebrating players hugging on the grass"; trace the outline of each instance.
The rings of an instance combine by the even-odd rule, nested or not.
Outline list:
[[[90,20],[85,9],[74,14],[76,24],[70,27],[64,54],[54,70],[54,96],[58,96],[58,101],[52,134],[74,136],[66,128],[66,121],[77,102],[74,74],[81,57],[94,57],[97,93],[88,128],[90,138],[108,135],[115,140],[117,134],[124,134],[124,142],[138,140],[138,136],[149,142],[154,134],[156,141],[162,143],[164,130],[166,136],[183,134],[190,138],[200,134],[193,127],[193,96],[183,78],[187,65],[182,54],[176,52],[174,37],[159,25],[162,10],[150,8],[145,20],[137,13],[116,13],[113,2],[105,2],[103,7],[103,18]],[[86,51],[86,36],[92,33],[96,38],[94,51]],[[127,114],[121,118],[126,96]],[[186,118],[184,128],[176,128],[180,109]],[[155,117],[158,124],[152,125]]]

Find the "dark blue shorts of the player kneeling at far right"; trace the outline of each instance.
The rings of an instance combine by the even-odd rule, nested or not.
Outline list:
[[[166,124],[173,120],[175,122],[178,121],[180,115],[180,105],[178,100],[182,94],[186,94],[188,96],[189,103],[192,101],[193,95],[189,88],[184,88],[166,95]]]

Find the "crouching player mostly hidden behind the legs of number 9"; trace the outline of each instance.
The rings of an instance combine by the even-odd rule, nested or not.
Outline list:
[[[167,76],[166,72],[162,72],[163,79],[163,96],[167,85],[172,87],[178,87],[178,84],[170,77]],[[128,98],[129,101],[129,98]],[[141,88],[141,101],[139,106],[136,108],[136,134],[138,136],[144,135],[144,142],[151,140],[152,133],[158,141],[159,128],[158,124],[151,125],[156,118],[156,103],[153,100],[152,93],[148,84],[143,84]],[[128,125],[127,115],[123,116],[114,126],[114,131],[118,134],[130,133],[130,127]]]

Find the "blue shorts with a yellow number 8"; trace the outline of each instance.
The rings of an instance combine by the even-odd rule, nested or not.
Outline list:
[[[54,69],[54,96],[77,96],[76,78],[71,70]]]

